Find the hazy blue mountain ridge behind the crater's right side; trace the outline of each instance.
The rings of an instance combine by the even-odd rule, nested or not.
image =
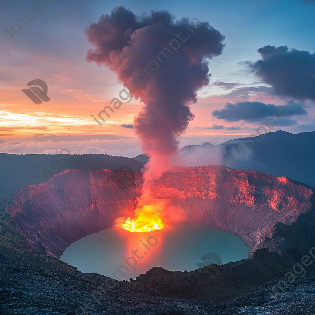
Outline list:
[[[192,154],[195,149],[203,148],[209,149],[211,155],[213,150],[220,148],[223,155],[221,163],[228,168],[285,176],[315,187],[314,145],[315,131],[291,134],[278,130],[229,140],[217,146],[208,142],[184,146],[177,152]]]

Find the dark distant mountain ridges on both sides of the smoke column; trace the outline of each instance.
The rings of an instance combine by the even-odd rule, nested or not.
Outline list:
[[[201,145],[189,145],[178,150],[178,153],[181,155],[187,153],[193,157],[194,150],[198,149],[202,153],[198,152],[197,155],[206,155],[209,152],[210,156],[211,154],[217,155],[221,150],[222,161],[220,163],[226,167],[285,176],[315,187],[315,165],[312,162],[315,153],[314,144],[315,131],[291,134],[279,130],[261,136],[229,140],[217,146],[208,142]],[[244,152],[245,156],[241,157]],[[44,182],[45,180],[40,177],[40,174],[44,178],[48,176],[51,178],[65,169],[114,170],[121,166],[129,166],[134,171],[139,171],[148,161],[148,157],[144,154],[134,158],[92,153],[71,154],[68,159],[59,157],[61,162],[57,157],[59,155],[0,153],[0,178],[5,179],[0,182],[0,195],[4,192],[14,192],[16,189],[28,185],[34,178]],[[196,166],[220,163],[205,163]],[[187,166],[192,167],[193,165]],[[51,172],[49,168],[54,172]],[[34,184],[38,184],[37,180],[34,180]]]

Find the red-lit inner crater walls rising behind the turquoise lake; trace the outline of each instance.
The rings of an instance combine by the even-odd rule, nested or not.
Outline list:
[[[218,175],[222,168],[225,171]],[[14,215],[25,247],[59,258],[70,243],[114,226],[120,216],[132,216],[141,194],[142,173],[135,173],[137,187],[128,191],[116,186],[109,178],[113,175],[110,170],[71,169],[46,183],[28,186],[28,200]],[[283,238],[274,240],[274,231],[278,224],[291,225],[311,209],[312,190],[285,177],[207,166],[164,174],[156,181],[153,196],[178,206],[182,222],[237,235],[249,247],[249,255],[262,244],[283,254],[289,244]]]

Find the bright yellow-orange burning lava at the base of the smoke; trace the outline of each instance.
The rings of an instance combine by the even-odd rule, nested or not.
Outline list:
[[[129,232],[151,232],[162,230],[164,224],[160,217],[163,204],[153,203],[135,209],[135,219],[128,218],[121,226]]]

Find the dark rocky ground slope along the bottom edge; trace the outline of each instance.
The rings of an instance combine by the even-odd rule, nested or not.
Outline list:
[[[99,300],[97,303],[92,295],[107,279],[99,274],[31,264],[23,266],[14,262],[1,262],[0,274],[1,315],[74,315],[76,311],[77,314],[91,315],[315,313],[315,278],[312,276],[297,278],[284,287],[284,292],[278,290],[279,294],[274,298],[267,291],[278,283],[278,279],[225,303],[160,298],[148,294],[137,284],[117,281],[112,289],[104,286],[106,294],[102,299],[95,294],[95,299]],[[201,287],[202,290],[204,288]],[[89,307],[95,306],[87,310],[84,301]]]

